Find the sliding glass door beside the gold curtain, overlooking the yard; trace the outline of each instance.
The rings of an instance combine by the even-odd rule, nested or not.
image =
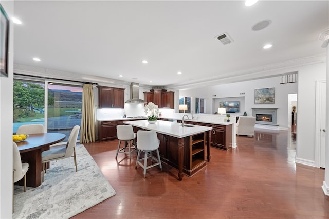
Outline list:
[[[72,128],[81,126],[81,109],[82,85],[14,79],[13,134],[20,125],[42,124],[67,141]]]

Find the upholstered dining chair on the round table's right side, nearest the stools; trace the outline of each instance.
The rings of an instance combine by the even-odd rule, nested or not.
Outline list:
[[[47,162],[53,160],[60,160],[64,158],[74,157],[74,164],[77,168],[77,157],[76,157],[76,145],[79,134],[80,126],[76,125],[73,127],[70,136],[68,137],[66,147],[56,147],[51,148],[50,150],[43,151],[41,153],[41,162],[42,162],[42,182],[44,181],[45,166]]]

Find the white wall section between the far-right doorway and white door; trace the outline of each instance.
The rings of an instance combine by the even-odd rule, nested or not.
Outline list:
[[[325,63],[308,65],[298,71],[296,162],[315,165],[316,81],[325,80]]]

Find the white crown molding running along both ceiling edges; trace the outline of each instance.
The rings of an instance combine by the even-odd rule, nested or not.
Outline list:
[[[259,67],[249,68],[241,71],[227,72],[216,74],[214,77],[203,78],[201,80],[195,80],[193,82],[188,81],[184,83],[169,84],[166,89],[191,89],[196,87],[211,86],[218,84],[228,84],[241,81],[249,81],[261,78],[275,77],[288,72],[296,71],[294,68],[298,68],[305,65],[312,65],[318,63],[324,63],[326,61],[326,53],[317,54],[314,56],[308,56],[278,63],[272,63],[269,65],[263,65]],[[60,71],[48,68],[40,68],[28,65],[14,64],[14,72],[19,74],[26,74],[38,77],[58,77],[66,80],[83,80],[87,82],[99,83],[103,85],[111,86],[130,86],[131,81],[121,81],[112,78],[105,78],[93,75],[82,75],[73,72]],[[138,83],[138,82],[136,82]],[[140,84],[140,87],[145,89],[150,88],[148,85]]]

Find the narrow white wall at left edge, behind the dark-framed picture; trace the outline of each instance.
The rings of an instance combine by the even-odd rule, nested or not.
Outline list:
[[[0,1],[11,17],[13,1]],[[0,218],[12,217],[13,24],[10,24],[9,77],[0,77]]]

